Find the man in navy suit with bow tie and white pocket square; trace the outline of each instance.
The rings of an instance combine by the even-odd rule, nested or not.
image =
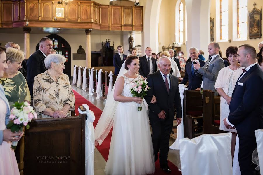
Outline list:
[[[251,157],[257,147],[255,130],[263,129],[263,72],[256,63],[256,50],[239,46],[237,60],[243,73],[235,85],[229,104],[230,113],[224,119],[226,128],[236,128],[239,137],[238,162],[242,175],[252,174]]]

